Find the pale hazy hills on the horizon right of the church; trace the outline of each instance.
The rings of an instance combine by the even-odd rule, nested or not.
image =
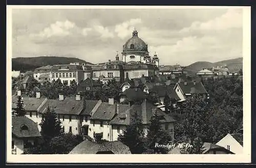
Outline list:
[[[189,75],[195,76],[196,73],[203,68],[211,68],[217,66],[225,66],[227,65],[230,71],[239,71],[243,69],[243,58],[236,58],[236,59],[229,59],[219,62],[206,62],[206,61],[199,61],[193,64],[186,66],[186,71]]]

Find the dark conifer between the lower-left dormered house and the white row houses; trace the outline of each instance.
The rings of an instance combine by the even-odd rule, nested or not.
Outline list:
[[[47,111],[45,114],[42,114],[42,122],[41,122],[41,135],[49,141],[51,138],[61,135],[63,133],[63,129],[61,128],[61,122],[58,120],[56,113],[54,110],[47,107]]]

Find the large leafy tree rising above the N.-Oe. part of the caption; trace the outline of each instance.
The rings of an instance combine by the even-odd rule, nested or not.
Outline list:
[[[214,132],[209,123],[209,106],[200,95],[189,98],[182,107],[183,119],[175,125],[175,140],[190,143],[185,153],[201,153],[203,142],[212,142]]]

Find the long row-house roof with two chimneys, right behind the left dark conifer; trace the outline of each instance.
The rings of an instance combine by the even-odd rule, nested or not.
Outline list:
[[[49,99],[39,113],[45,113],[47,106],[53,108],[56,114],[78,115],[83,110],[83,98],[80,101],[76,101],[75,97],[66,97],[63,101]]]

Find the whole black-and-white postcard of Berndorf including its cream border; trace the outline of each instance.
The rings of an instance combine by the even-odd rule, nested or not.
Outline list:
[[[250,162],[250,7],[7,6],[7,78],[11,162]]]

